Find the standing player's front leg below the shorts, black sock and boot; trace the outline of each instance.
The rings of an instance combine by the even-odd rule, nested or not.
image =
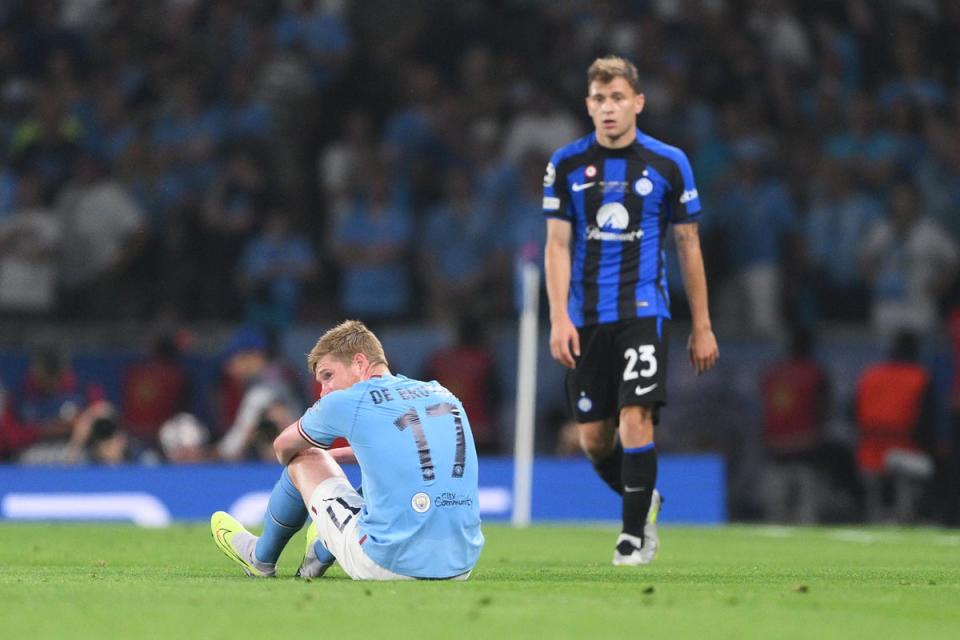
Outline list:
[[[649,564],[657,554],[657,453],[653,444],[654,409],[628,406],[620,411],[623,443],[623,531],[613,554],[616,565]]]

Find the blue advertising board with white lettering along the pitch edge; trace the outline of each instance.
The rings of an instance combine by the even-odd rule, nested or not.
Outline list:
[[[119,467],[0,465],[0,519],[123,521],[162,527],[205,521],[226,509],[260,524],[279,467],[270,464]],[[359,470],[347,467],[352,482]],[[662,521],[713,525],[726,521],[723,459],[663,455],[658,486],[666,497]],[[513,506],[513,460],[482,458],[480,513],[508,520]],[[453,497],[460,499],[459,496]],[[438,507],[445,499],[436,496]],[[534,465],[534,521],[616,521],[620,499],[583,459],[538,458]]]

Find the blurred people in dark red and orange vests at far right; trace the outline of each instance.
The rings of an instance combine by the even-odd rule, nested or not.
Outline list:
[[[951,325],[956,356],[960,314]],[[759,515],[807,525],[857,519],[960,525],[958,381],[948,393],[938,390],[919,337],[900,331],[887,353],[858,372],[837,415],[839,381],[818,356],[813,334],[798,330],[759,378],[765,456],[754,476]],[[851,427],[849,438],[838,433],[838,423]]]

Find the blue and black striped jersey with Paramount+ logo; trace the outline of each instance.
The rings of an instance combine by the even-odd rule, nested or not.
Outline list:
[[[573,225],[574,325],[669,318],[667,227],[700,215],[686,154],[639,130],[622,149],[600,146],[592,133],[553,154],[543,187],[544,215]]]

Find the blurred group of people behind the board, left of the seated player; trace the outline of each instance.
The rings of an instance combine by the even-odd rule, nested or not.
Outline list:
[[[103,378],[81,381],[63,350],[38,348],[19,387],[6,393],[0,387],[0,459],[111,465],[275,460],[274,438],[306,406],[300,377],[273,357],[266,334],[243,328],[218,354],[215,379],[201,391],[183,342],[182,336],[158,335],[150,353],[122,367],[112,400]],[[195,407],[204,404],[202,419]]]

